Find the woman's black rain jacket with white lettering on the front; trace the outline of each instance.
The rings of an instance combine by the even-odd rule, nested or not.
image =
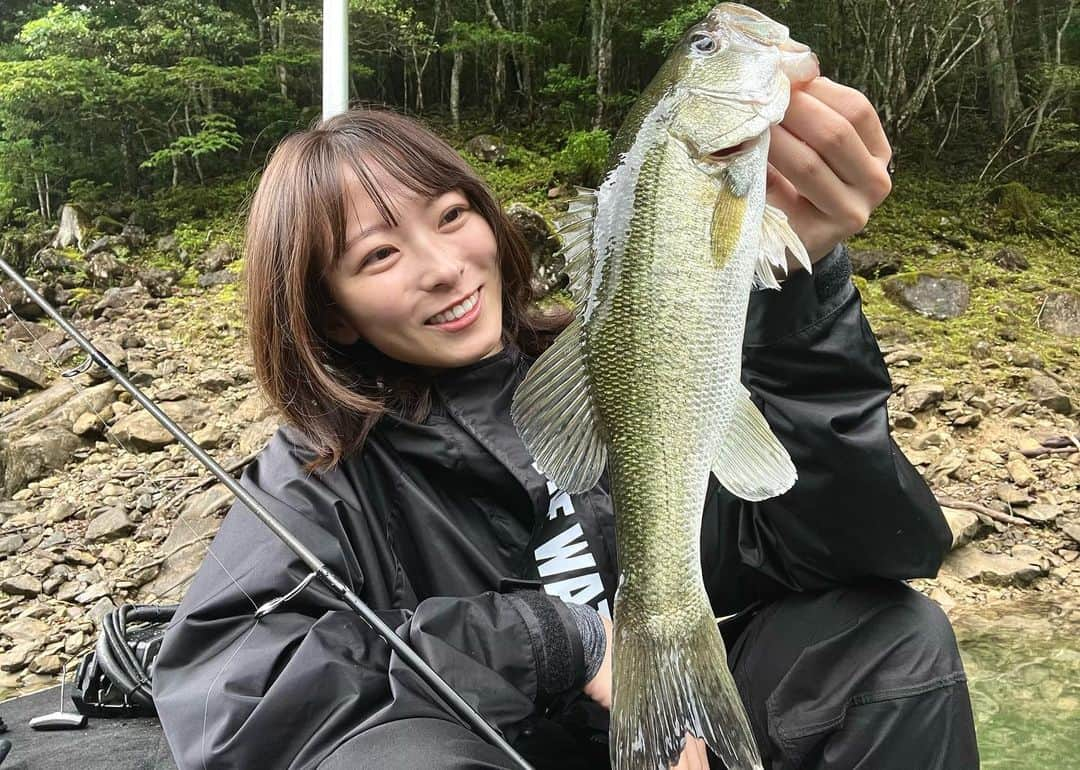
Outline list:
[[[531,363],[509,347],[440,374],[429,419],[386,418],[362,451],[324,475],[303,472],[312,452],[283,428],[243,475],[245,488],[511,741],[530,719],[557,719],[565,693],[584,678],[566,604],[527,582],[543,577],[537,550],[564,513],[554,497],[566,497],[532,467],[509,417]],[[800,271],[782,292],[753,295],[742,377],[799,477],[764,502],[737,499],[711,477],[701,553],[716,614],[867,577],[933,576],[949,530],[890,437],[889,375],[841,247],[812,276]],[[575,545],[558,567],[584,559],[603,583],[591,604],[610,606],[618,570],[606,476],[570,503],[588,553]],[[256,607],[306,575],[233,505],[153,673],[181,769],[310,768],[376,725],[451,718],[318,581],[255,619]]]

